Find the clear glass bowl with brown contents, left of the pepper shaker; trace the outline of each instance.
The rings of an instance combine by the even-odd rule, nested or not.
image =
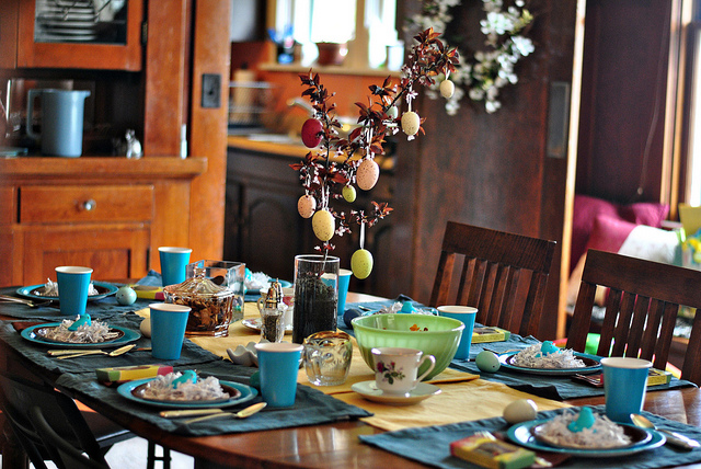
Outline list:
[[[229,324],[243,316],[243,298],[205,277],[205,270],[196,270],[193,278],[163,287],[165,302],[191,307],[185,335],[229,335]]]

